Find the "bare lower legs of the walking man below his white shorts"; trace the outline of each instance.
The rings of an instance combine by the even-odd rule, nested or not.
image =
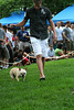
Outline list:
[[[40,70],[40,78],[44,77],[43,68],[44,68],[44,59],[42,61],[42,55],[36,56],[36,64]]]

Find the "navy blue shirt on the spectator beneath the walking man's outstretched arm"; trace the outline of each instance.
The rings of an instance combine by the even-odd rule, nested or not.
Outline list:
[[[28,33],[28,31],[18,31],[18,33],[17,33],[17,36],[19,36],[19,41],[22,41],[22,42],[28,42],[28,41],[30,41],[30,38],[28,38],[28,37],[24,37],[23,36],[23,34],[25,34],[27,36],[29,36],[29,33]]]

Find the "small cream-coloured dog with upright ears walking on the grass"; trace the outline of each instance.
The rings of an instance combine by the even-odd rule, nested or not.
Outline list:
[[[18,68],[18,67],[13,67],[11,70],[10,70],[10,77],[12,80],[14,80],[14,78],[17,78],[17,80],[19,81],[19,77],[22,77],[22,80],[24,81],[24,77],[27,75],[27,69],[28,68]]]

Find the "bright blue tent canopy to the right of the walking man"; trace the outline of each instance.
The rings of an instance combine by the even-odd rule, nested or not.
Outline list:
[[[74,23],[74,4],[57,13],[55,16],[53,16],[52,20],[54,23],[56,23],[57,21],[63,21],[64,23],[66,21],[71,21],[71,23]]]

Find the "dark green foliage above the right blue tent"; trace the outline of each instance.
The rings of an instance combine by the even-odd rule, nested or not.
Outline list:
[[[73,0],[44,0],[45,6],[51,9],[53,14],[59,13],[60,11],[62,11],[63,9],[65,9],[66,7],[71,6],[74,3]]]

